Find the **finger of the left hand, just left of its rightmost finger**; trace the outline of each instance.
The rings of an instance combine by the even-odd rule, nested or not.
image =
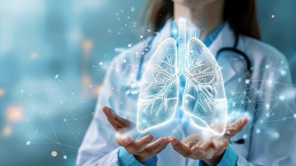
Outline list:
[[[153,136],[150,134],[145,135],[137,141],[132,141],[127,146],[124,146],[126,151],[130,154],[142,152],[146,146],[153,141]]]

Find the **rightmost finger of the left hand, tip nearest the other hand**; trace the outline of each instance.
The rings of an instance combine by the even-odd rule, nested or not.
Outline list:
[[[170,139],[159,138],[155,142],[150,144],[148,147],[146,147],[143,152],[146,154],[158,154],[163,149],[165,149],[169,143],[170,143]]]

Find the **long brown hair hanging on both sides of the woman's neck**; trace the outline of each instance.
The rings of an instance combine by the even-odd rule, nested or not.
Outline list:
[[[173,17],[173,5],[172,0],[148,0],[142,14],[147,16],[147,24],[159,31]],[[235,33],[260,39],[255,0],[225,0],[223,16]]]

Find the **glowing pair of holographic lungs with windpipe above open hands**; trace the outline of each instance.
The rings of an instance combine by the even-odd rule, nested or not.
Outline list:
[[[183,74],[186,76],[183,110],[198,128],[224,134],[227,100],[220,68],[199,39],[190,38],[186,46],[184,18],[179,19],[178,41],[178,50],[173,38],[162,41],[144,71],[137,129],[145,132],[173,118],[178,103],[178,78]]]

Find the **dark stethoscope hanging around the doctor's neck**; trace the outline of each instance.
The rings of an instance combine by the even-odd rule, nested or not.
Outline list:
[[[234,42],[233,47],[220,48],[217,51],[216,60],[218,61],[218,59],[220,58],[221,53],[226,52],[226,51],[232,51],[232,52],[242,56],[242,58],[246,61],[246,68],[247,68],[247,72],[248,72],[247,78],[250,78],[250,75],[252,73],[251,61],[248,58],[246,53],[244,53],[243,51],[237,49],[238,39],[239,39],[239,34],[235,33],[235,42]],[[152,40],[150,40],[148,46],[150,46],[150,44],[152,43]],[[141,80],[141,72],[140,71],[142,69],[143,61],[144,60],[143,60],[143,56],[142,56],[140,58],[140,63],[139,63],[139,67],[138,67],[138,73],[137,73],[137,76],[136,76],[136,80],[134,80],[132,82],[132,84],[129,87],[127,87],[126,90],[125,90],[125,94],[130,96],[130,97],[136,98],[136,97],[138,97],[138,95],[140,93],[140,85],[141,85],[141,81],[140,81]],[[248,88],[246,88],[246,89],[248,90]],[[245,139],[243,139],[243,138],[235,140],[235,141],[232,141],[232,140],[228,139],[228,141],[231,144],[244,144],[245,143]]]

